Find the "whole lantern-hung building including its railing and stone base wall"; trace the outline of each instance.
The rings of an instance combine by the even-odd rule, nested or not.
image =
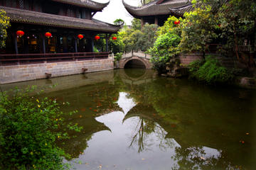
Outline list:
[[[6,47],[0,49],[0,84],[114,69],[107,41],[121,26],[92,18],[108,4],[0,0],[11,21]],[[95,52],[99,38],[106,47]]]

